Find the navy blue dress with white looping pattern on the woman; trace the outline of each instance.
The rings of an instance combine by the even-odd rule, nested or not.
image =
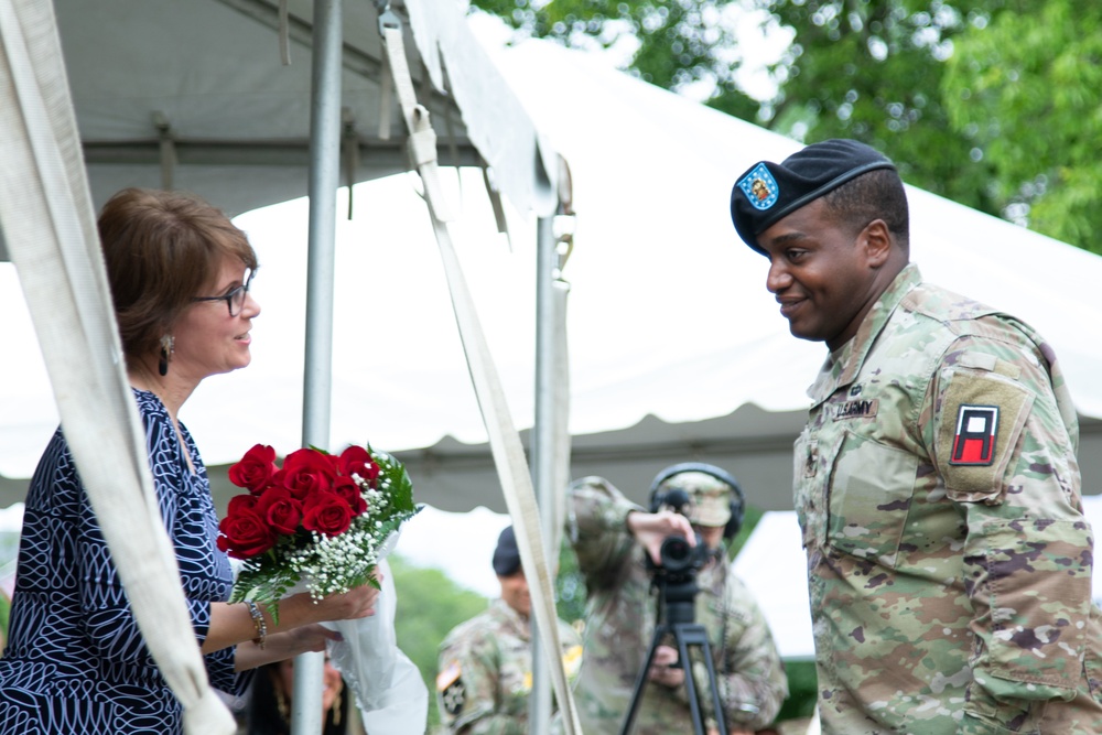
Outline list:
[[[161,516],[202,645],[210,603],[228,598],[233,579],[229,560],[215,547],[206,468],[181,425],[192,474],[160,400],[145,391],[134,396]],[[26,497],[8,634],[0,658],[0,734],[182,732],[180,704],[138,630],[61,429]],[[205,662],[213,687],[239,694],[251,675],[234,672],[234,655],[226,648]]]

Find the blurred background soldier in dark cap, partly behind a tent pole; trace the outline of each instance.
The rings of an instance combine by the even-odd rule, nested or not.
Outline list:
[[[512,527],[498,537],[494,572],[501,597],[456,626],[440,647],[436,704],[456,735],[526,735],[532,689],[532,601]],[[582,660],[577,631],[559,621],[568,680]]]

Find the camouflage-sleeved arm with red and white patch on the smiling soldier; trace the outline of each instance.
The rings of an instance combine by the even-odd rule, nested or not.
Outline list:
[[[1035,721],[1044,701],[1074,696],[1082,671],[1093,540],[1078,426],[1051,350],[1030,347],[960,341],[920,421],[966,525],[975,646],[962,732]]]

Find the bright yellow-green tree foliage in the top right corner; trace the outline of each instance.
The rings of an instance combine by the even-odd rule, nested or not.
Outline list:
[[[985,152],[1012,218],[1102,253],[1102,4],[1000,6],[949,58],[952,123]]]

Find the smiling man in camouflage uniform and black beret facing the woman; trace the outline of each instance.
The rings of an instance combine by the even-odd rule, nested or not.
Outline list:
[[[732,217],[792,334],[830,349],[795,462],[823,732],[1102,733],[1093,539],[1052,349],[922,282],[903,184],[866,145],[752,166]]]

